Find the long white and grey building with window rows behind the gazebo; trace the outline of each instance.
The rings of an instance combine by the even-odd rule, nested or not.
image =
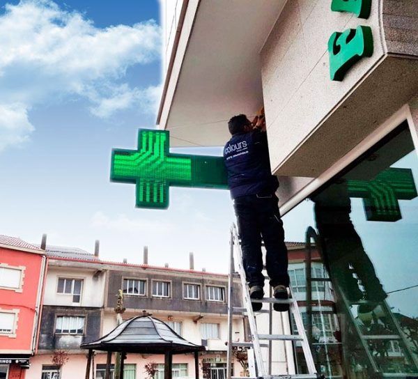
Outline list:
[[[95,341],[118,325],[115,313],[118,291],[123,293],[122,320],[142,314],[167,323],[183,338],[206,346],[201,353],[201,375],[226,375],[228,277],[196,270],[178,270],[100,261],[98,254],[79,249],[47,247],[45,300],[38,354],[31,359],[26,379],[72,379],[85,376],[86,351],[81,343]],[[235,283],[236,291],[240,284]],[[235,306],[240,306],[237,299]],[[245,320],[233,319],[234,339],[245,340]],[[112,360],[114,369],[115,357]],[[157,365],[164,377],[164,356],[127,355],[125,379],[146,378],[146,364]],[[106,354],[96,352],[95,378],[104,378]],[[237,362],[238,375],[242,366]],[[175,355],[173,374],[194,377],[194,356]],[[113,375],[113,374],[112,374]]]

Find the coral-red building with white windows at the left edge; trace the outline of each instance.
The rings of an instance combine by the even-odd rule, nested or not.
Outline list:
[[[36,353],[46,268],[41,249],[0,235],[1,379],[23,379]]]

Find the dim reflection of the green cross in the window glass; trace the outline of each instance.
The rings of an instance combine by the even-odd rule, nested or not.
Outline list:
[[[387,169],[371,181],[348,180],[350,197],[363,199],[368,221],[395,222],[402,218],[398,200],[417,197],[411,169]]]

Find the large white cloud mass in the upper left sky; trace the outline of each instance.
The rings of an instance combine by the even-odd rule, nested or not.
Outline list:
[[[27,109],[34,105],[75,96],[102,118],[134,107],[155,111],[159,88],[132,88],[124,80],[127,68],[160,56],[153,20],[100,29],[52,0],[21,0],[0,15],[0,46],[0,106],[16,110],[19,104],[23,117],[13,127],[0,124],[0,135],[6,127],[15,130],[3,147],[28,137]]]

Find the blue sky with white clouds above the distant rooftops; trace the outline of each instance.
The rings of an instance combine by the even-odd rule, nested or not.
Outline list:
[[[109,182],[111,148],[135,148],[160,97],[158,1],[6,1],[0,8],[0,233],[140,263],[226,272],[227,191],[171,189],[134,208]],[[219,154],[219,149],[197,153]]]

